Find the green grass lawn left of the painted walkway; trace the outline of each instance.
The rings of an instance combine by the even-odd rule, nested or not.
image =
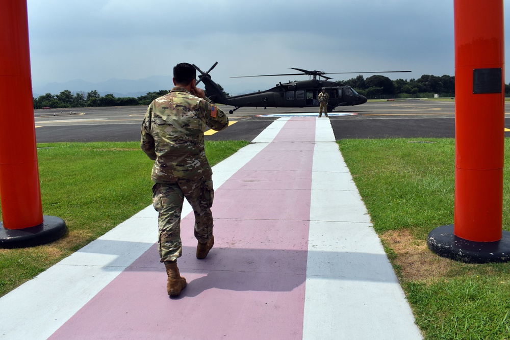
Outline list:
[[[247,144],[206,142],[206,154],[214,166]],[[62,218],[68,232],[47,245],[0,249],[0,296],[152,202],[150,171],[154,162],[138,142],[45,143],[38,144],[37,153],[43,213]]]

